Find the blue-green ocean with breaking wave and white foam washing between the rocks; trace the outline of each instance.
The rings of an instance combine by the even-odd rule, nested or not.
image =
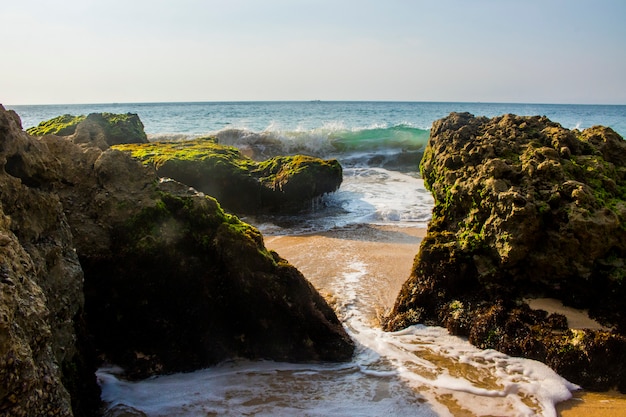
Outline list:
[[[413,231],[427,227],[433,207],[419,177],[419,155],[433,121],[450,112],[545,115],[566,128],[604,125],[624,136],[626,106],[311,101],[6,108],[20,115],[24,128],[66,113],[132,112],[151,141],[211,135],[255,158],[304,153],[337,158],[344,167],[341,188],[310,209],[243,220],[257,226],[266,241],[294,239],[285,250],[314,285],[324,287],[324,295],[330,293],[356,342],[353,360],[235,360],[134,382],[124,380],[113,364],[97,374],[110,407],[149,416],[556,416],[555,404],[577,389],[539,362],[477,349],[445,329],[383,332],[376,308],[389,305],[376,306],[376,294],[385,292],[385,270],[395,265],[385,265],[384,258],[374,265],[376,249],[364,252],[370,246],[356,243],[382,247],[391,234],[392,248],[405,245],[410,256],[417,253],[420,240]],[[322,235],[332,243],[308,238]],[[410,258],[403,262],[410,267]],[[405,273],[408,278],[408,270],[399,274]]]

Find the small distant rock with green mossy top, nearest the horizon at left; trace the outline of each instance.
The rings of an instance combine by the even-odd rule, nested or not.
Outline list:
[[[91,113],[88,116],[72,116],[64,114],[39,123],[35,127],[26,130],[33,136],[73,135],[76,143],[90,143],[93,145],[94,136],[100,135],[98,146],[105,149],[106,146],[120,143],[145,143],[148,141],[144,126],[139,116],[134,113]]]

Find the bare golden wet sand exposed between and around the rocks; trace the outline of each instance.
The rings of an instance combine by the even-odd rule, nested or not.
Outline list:
[[[331,284],[340,262],[346,256],[366,254],[371,288],[369,299],[364,299],[373,325],[393,306],[404,281],[409,277],[413,259],[425,236],[423,228],[392,226],[355,226],[324,233],[303,236],[266,236],[265,244],[295,265],[331,304],[335,294]],[[326,256],[320,261],[319,253]],[[558,307],[552,300],[535,301],[535,308],[548,311]],[[584,312],[565,311],[575,318],[576,325],[589,324]],[[578,320],[582,320],[578,321]],[[626,416],[626,395],[617,392],[591,393],[579,391],[574,397],[557,406],[560,417],[618,417]]]

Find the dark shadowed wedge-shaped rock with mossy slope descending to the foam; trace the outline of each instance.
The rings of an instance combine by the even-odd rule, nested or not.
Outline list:
[[[260,232],[212,197],[159,192],[114,229],[112,258],[82,258],[103,355],[129,377],[233,357],[349,360],[333,310]]]

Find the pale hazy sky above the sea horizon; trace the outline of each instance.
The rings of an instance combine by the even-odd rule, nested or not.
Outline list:
[[[626,0],[0,0],[0,103],[626,104]]]

